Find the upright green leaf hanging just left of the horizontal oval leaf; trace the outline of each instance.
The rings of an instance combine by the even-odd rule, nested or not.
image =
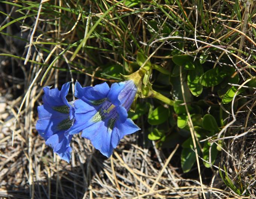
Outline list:
[[[194,96],[200,96],[203,91],[203,86],[199,84],[200,77],[204,73],[203,66],[197,64],[195,70],[189,70],[187,73],[187,85],[190,92]]]

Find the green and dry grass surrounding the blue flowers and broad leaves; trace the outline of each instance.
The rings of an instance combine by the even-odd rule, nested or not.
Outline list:
[[[181,170],[180,149],[165,149],[168,141],[151,144],[148,140],[148,112],[137,120],[143,131],[126,137],[108,160],[76,135],[72,161],[67,165],[52,154],[35,131],[36,107],[41,105],[44,86],[60,87],[75,80],[84,86],[119,81],[119,73],[130,74],[138,69],[138,52],[150,57],[154,64],[150,77],[154,89],[170,98],[174,98],[176,82],[183,78],[178,74],[169,80],[176,55],[201,61],[207,70],[232,67],[240,78],[236,86],[247,86],[244,83],[253,79],[256,61],[256,6],[252,1],[0,3],[0,105],[5,104],[0,109],[1,197],[192,198],[201,197],[202,191],[209,198],[238,194],[255,197],[253,90],[236,93],[232,105],[224,105],[218,93],[221,89],[204,88],[202,114],[215,114],[212,110],[218,109],[215,115],[221,115],[217,122],[222,131],[210,139],[222,150],[214,166],[205,169],[199,149],[199,164],[187,174]],[[190,92],[183,88],[181,93],[186,97],[184,94]],[[142,103],[146,101],[153,107],[161,105],[155,100]],[[197,101],[199,98],[194,97],[187,102],[193,105]],[[175,112],[172,116],[174,120],[177,117]],[[157,128],[165,129],[161,125]],[[165,135],[169,143],[175,140],[174,146],[184,141],[177,132],[181,132],[180,128],[171,126]],[[242,193],[235,193],[218,175],[224,166],[226,175]],[[198,173],[193,175],[198,169],[201,180]]]

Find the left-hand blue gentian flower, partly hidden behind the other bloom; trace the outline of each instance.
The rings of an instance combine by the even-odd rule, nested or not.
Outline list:
[[[70,141],[73,136],[69,134],[69,128],[73,124],[75,114],[75,108],[66,99],[69,86],[70,82],[64,84],[60,91],[58,88],[43,88],[43,105],[37,108],[36,125],[38,133],[44,138],[46,144],[68,163],[71,158]]]

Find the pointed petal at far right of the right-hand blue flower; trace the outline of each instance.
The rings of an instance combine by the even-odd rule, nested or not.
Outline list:
[[[129,135],[140,130],[140,128],[134,124],[133,120],[130,118],[127,118],[124,123],[117,120],[115,127],[120,131],[120,139],[122,139],[125,135]]]

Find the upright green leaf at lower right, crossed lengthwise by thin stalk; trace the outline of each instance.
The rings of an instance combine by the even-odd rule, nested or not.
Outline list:
[[[217,153],[218,153],[218,150],[217,150],[217,144],[215,143],[212,143],[212,147],[211,147],[211,153],[209,153],[210,151],[210,146],[211,146],[211,143],[209,143],[208,141],[205,141],[204,142],[204,147],[203,147],[203,159],[206,160],[207,162],[210,162],[210,154],[211,154],[211,164],[213,165],[213,163],[215,162],[216,160],[216,157],[217,157]],[[207,168],[210,168],[211,165],[207,162],[203,162],[204,163],[204,166],[207,167]]]

